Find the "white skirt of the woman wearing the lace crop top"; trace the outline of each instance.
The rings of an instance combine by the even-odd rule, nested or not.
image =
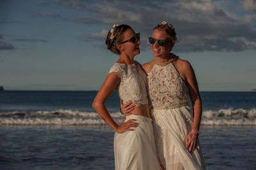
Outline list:
[[[126,119],[136,119],[139,124],[134,131],[115,133],[115,169],[160,169],[154,143],[152,120],[145,116],[131,114]]]

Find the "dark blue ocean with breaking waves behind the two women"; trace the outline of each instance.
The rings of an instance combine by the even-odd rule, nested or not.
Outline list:
[[[97,91],[0,91],[0,169],[114,169]],[[256,169],[256,93],[200,92],[207,169]],[[122,121],[114,92],[106,102]]]

